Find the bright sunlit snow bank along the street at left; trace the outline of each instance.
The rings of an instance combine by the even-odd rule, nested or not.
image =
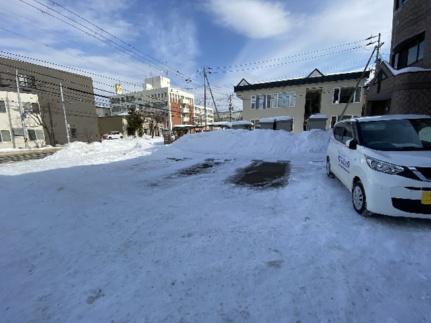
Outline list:
[[[0,175],[16,175],[57,168],[83,165],[99,165],[137,158],[151,153],[162,139],[145,136],[122,140],[106,140],[90,144],[73,142],[54,155],[44,159],[5,164],[0,166]]]

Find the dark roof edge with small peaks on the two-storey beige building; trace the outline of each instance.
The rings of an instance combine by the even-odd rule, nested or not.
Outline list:
[[[248,91],[248,90],[260,90],[260,89],[267,89],[267,88],[286,87],[286,86],[295,86],[295,85],[304,85],[304,84],[357,80],[361,78],[362,73],[363,72],[351,72],[351,73],[323,75],[321,74],[320,71],[315,69],[307,77],[298,78],[298,79],[290,79],[290,80],[282,80],[282,81],[274,81],[274,82],[266,82],[266,83],[256,83],[256,84],[250,84],[245,79],[242,79],[241,82],[234,87],[234,91],[241,92],[241,91]],[[322,76],[319,76],[319,74],[321,74]],[[369,71],[365,72],[364,78],[368,78],[369,76],[370,76],[370,72]]]

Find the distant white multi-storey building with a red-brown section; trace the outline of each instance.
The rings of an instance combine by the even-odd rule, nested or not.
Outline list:
[[[173,88],[170,79],[156,76],[145,79],[144,90],[118,94],[111,98],[112,115],[126,115],[130,109],[141,109],[162,117],[164,127],[194,124],[194,95]]]

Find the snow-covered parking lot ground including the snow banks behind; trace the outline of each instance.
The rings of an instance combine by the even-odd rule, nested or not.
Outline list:
[[[428,321],[431,223],[355,214],[327,140],[220,131],[0,165],[0,321]],[[291,161],[289,184],[228,181],[256,159]]]

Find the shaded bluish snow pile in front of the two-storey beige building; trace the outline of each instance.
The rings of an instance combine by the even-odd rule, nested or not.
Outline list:
[[[202,153],[235,158],[304,159],[323,158],[329,131],[299,134],[273,130],[226,130],[184,136],[172,145],[183,154]]]

